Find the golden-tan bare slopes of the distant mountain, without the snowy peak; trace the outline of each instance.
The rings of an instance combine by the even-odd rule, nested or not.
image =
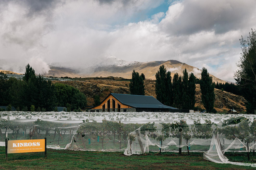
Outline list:
[[[74,68],[65,68],[65,67],[50,67],[51,70],[47,74],[48,76],[52,76],[55,74],[56,77],[123,77],[126,79],[130,79],[132,77],[132,71],[135,70],[137,72],[144,73],[146,79],[155,80],[155,75],[159,67],[164,64],[167,71],[171,71],[171,76],[177,72],[179,75],[182,75],[182,71],[186,68],[190,73],[192,72],[197,78],[201,77],[201,70],[188,65],[186,63],[182,63],[176,60],[168,60],[168,61],[150,61],[150,62],[135,62],[125,66],[102,66],[96,68],[90,68],[90,73],[83,73],[80,70]],[[211,75],[211,74],[210,74]],[[214,75],[211,75],[213,81],[217,83],[225,83],[224,80],[221,80]]]

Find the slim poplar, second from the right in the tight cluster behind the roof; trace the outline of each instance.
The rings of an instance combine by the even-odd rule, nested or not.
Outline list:
[[[185,68],[182,76],[182,109],[189,109],[188,72]]]

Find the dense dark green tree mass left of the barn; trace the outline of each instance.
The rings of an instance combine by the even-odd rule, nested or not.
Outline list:
[[[28,64],[21,79],[0,73],[0,105],[11,105],[17,111],[56,111],[56,106],[67,111],[84,109],[86,96],[72,86],[46,81]]]

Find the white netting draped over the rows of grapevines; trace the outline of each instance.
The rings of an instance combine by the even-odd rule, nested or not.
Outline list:
[[[47,137],[47,147],[71,150],[204,152],[229,162],[227,151],[256,149],[255,115],[118,112],[0,112],[0,145],[10,140]],[[87,122],[88,121],[88,122]],[[2,141],[2,142],[1,142]]]

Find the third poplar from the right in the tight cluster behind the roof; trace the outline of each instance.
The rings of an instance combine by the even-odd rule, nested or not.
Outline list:
[[[173,76],[173,107],[182,109],[183,96],[182,96],[182,77],[176,72]]]

